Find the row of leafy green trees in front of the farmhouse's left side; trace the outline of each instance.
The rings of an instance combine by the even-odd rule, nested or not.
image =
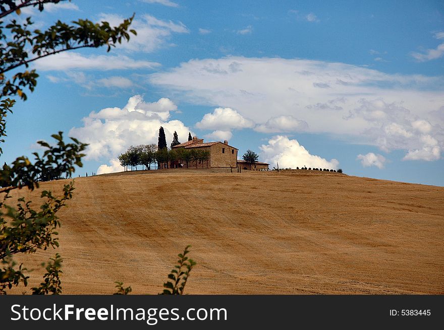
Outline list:
[[[179,162],[181,167],[186,165],[187,168],[191,164],[195,164],[196,168],[198,164],[201,164],[202,168],[206,162],[206,167],[208,168],[208,161],[210,159],[209,150],[202,149],[185,149],[176,148],[168,149],[162,148],[158,149],[155,144],[150,145],[139,145],[131,146],[128,150],[121,154],[119,157],[120,165],[128,171],[130,168],[138,169],[142,166],[142,169],[150,170],[152,164],[156,164],[158,168],[169,168],[171,162]]]

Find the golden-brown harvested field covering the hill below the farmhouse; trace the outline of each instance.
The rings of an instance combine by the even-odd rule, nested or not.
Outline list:
[[[444,187],[203,169],[82,177],[75,187],[60,212],[65,294],[113,293],[115,281],[161,292],[187,244],[197,261],[188,294],[444,293]],[[54,253],[21,261],[38,267]]]

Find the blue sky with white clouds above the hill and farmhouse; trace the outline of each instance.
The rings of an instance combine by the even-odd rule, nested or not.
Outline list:
[[[90,144],[78,174],[119,171],[117,156],[162,125],[168,142],[174,130],[227,139],[271,166],[444,185],[442,2],[73,0],[21,18],[133,13],[128,44],[35,62],[4,161],[62,130]]]

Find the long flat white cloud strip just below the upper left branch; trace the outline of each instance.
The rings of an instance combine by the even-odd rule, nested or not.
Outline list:
[[[153,69],[159,65],[156,62],[134,60],[125,55],[84,56],[77,52],[62,52],[35,62],[35,67],[40,71]]]

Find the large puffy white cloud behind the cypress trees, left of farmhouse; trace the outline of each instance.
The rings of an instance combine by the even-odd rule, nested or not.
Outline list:
[[[174,131],[179,140],[186,141],[190,129],[182,121],[170,119],[170,112],[176,109],[168,98],[145,102],[140,95],[135,95],[123,108],[92,111],[82,119],[82,127],[70,130],[70,136],[89,144],[86,160],[110,162],[131,145],[157,143],[160,126],[165,130],[167,141],[173,140]],[[103,166],[101,171],[116,168],[112,162],[110,164]]]

